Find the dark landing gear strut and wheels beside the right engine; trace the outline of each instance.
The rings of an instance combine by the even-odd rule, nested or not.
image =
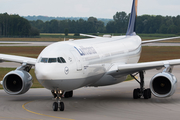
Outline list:
[[[149,88],[148,89],[144,88],[144,72],[143,71],[139,72],[140,81],[138,81],[135,77],[137,74],[136,75],[130,74],[130,75],[140,84],[140,88],[134,89],[133,98],[139,99],[139,98],[141,98],[141,96],[143,96],[144,99],[150,99],[151,98],[151,90]]]

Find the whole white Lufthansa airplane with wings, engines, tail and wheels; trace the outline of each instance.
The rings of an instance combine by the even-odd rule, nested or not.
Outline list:
[[[165,98],[176,90],[177,79],[171,73],[173,66],[180,65],[180,59],[138,63],[142,45],[180,37],[142,41],[135,33],[137,2],[133,0],[126,35],[88,35],[87,39],[55,42],[42,50],[38,58],[0,54],[0,61],[21,63],[16,70],[7,73],[1,84],[10,95],[26,93],[32,85],[29,71],[34,66],[37,80],[52,92],[56,102],[53,111],[64,111],[62,97],[73,97],[73,90],[90,86],[108,86],[121,83],[131,75],[140,85],[134,89],[133,98],[150,99],[151,94]],[[82,34],[85,35],[85,34]],[[144,72],[150,69],[164,70],[150,81],[150,88],[144,88]],[[139,74],[138,80],[135,76]]]

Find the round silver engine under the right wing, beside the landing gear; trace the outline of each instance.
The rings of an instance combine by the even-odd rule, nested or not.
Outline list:
[[[150,82],[150,89],[154,96],[164,98],[174,94],[177,86],[177,79],[168,72],[156,74]]]

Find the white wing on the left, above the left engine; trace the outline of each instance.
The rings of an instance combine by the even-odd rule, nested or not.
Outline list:
[[[37,59],[30,58],[30,57],[22,57],[16,55],[7,55],[7,54],[0,54],[0,60],[3,61],[11,61],[17,63],[27,63],[29,65],[34,66],[36,64]]]

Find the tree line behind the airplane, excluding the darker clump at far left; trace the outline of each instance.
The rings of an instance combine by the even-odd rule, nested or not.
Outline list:
[[[126,33],[129,15],[125,12],[117,12],[113,20],[107,25],[95,17],[89,17],[87,20],[51,20],[43,22],[42,20],[30,21],[33,27],[36,27],[42,33],[63,33],[68,29],[70,33]],[[137,17],[137,33],[180,33],[180,15],[171,16],[153,16],[142,15]]]

